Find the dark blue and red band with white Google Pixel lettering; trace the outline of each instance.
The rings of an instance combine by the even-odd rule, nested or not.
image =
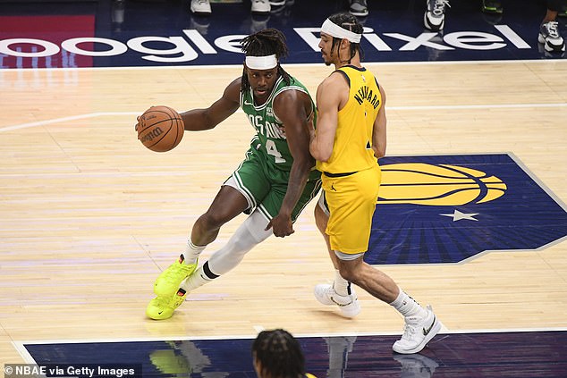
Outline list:
[[[44,2],[45,3],[45,2]],[[291,49],[284,63],[321,63],[318,28],[339,0],[288,1],[268,15],[248,1],[212,4],[194,16],[189,1],[98,1],[3,4],[0,68],[241,64],[239,41],[264,28],[281,29]],[[425,0],[368,2],[361,46],[366,62],[563,59],[537,42],[543,1],[504,2],[504,13],[480,11],[480,1],[452,1],[442,32],[423,26]],[[559,18],[567,30],[567,18]]]

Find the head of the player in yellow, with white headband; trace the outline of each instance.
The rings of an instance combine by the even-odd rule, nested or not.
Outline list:
[[[326,65],[351,64],[356,57],[360,61],[360,38],[364,27],[351,13],[336,13],[321,25],[319,48]]]

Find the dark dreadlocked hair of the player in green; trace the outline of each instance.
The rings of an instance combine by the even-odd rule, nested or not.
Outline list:
[[[278,61],[277,73],[283,76],[285,83],[290,83],[289,73],[284,71],[279,64],[280,59],[288,54],[285,36],[280,30],[269,28],[250,34],[250,36],[241,40],[241,46],[246,56],[267,56],[275,54],[275,58]],[[248,81],[246,72],[242,71],[241,91],[248,89],[250,89],[250,82]]]

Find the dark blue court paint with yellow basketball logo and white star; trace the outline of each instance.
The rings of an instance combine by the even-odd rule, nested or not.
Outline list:
[[[567,236],[563,203],[511,154],[392,156],[380,165],[368,264],[460,263]]]

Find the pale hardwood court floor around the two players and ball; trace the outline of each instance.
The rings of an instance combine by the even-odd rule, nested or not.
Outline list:
[[[368,64],[387,93],[388,155],[512,152],[567,200],[567,62]],[[323,64],[286,66],[314,94]],[[12,342],[402,330],[359,290],[346,320],[312,297],[331,279],[313,205],[286,239],[268,239],[233,272],[196,290],[172,319],[144,309],[157,274],[240,163],[252,129],[236,113],[186,133],[173,151],[141,146],[149,105],[209,105],[240,67],[0,70],[0,363]],[[227,224],[202,260],[241,223]],[[381,267],[446,327],[567,327],[567,244],[489,253],[461,265]]]

